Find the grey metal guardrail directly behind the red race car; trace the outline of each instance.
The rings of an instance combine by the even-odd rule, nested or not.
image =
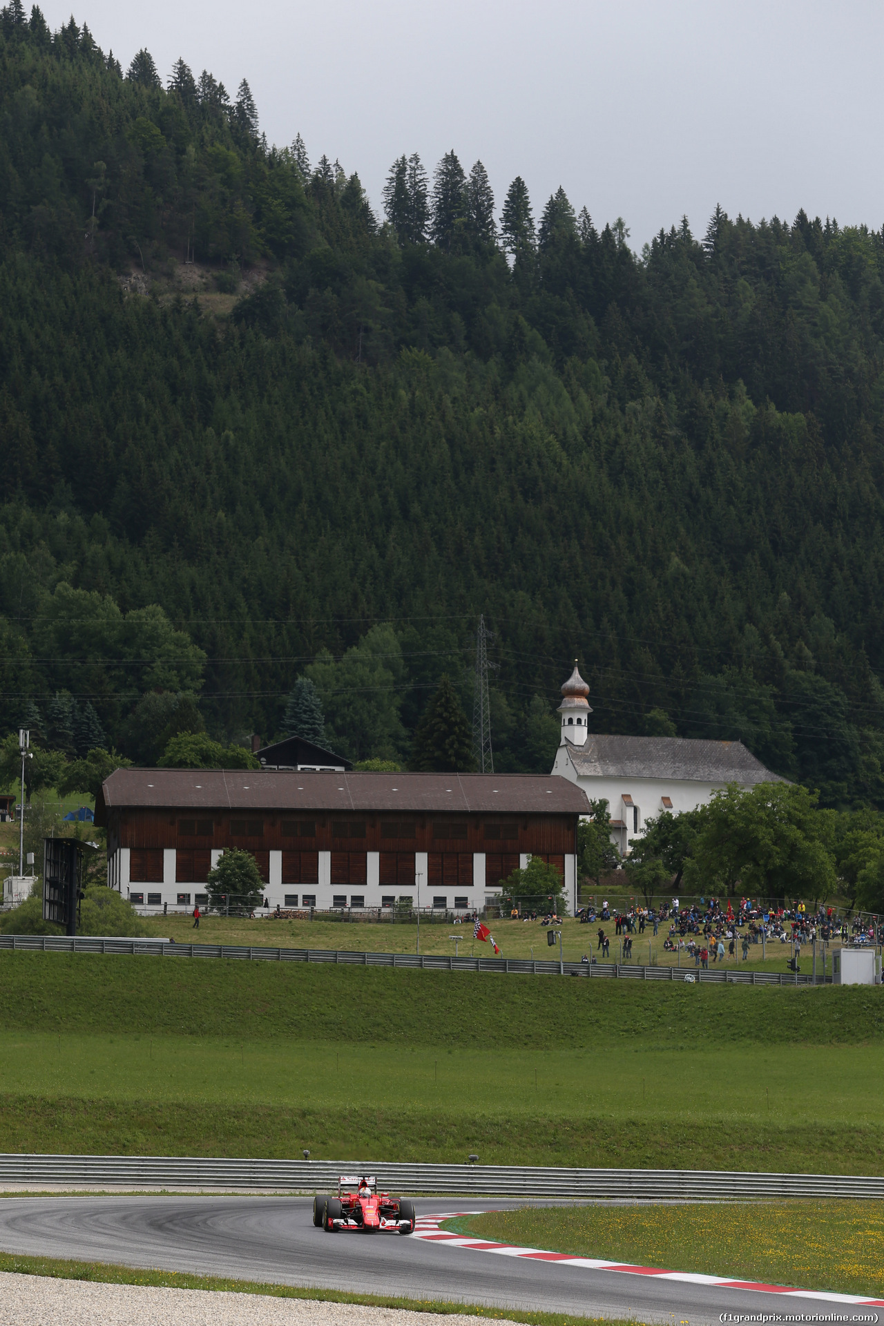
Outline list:
[[[0,1155],[0,1184],[114,1188],[334,1191],[341,1174],[372,1174],[382,1189],[470,1197],[722,1201],[884,1197],[884,1177],[714,1170],[569,1170],[531,1166],[387,1164],[376,1160],[227,1160],[193,1156]]]

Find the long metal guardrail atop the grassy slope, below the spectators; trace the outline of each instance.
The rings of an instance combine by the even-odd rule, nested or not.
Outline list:
[[[0,935],[4,948],[45,953],[123,953],[152,957],[227,957],[264,963],[339,963],[357,967],[419,967],[440,972],[506,972],[527,976],[580,976],[644,981],[701,981],[734,985],[822,985],[831,972],[757,972],[724,967],[640,967],[632,963],[550,963],[530,957],[455,957],[453,953],[358,953],[341,948],[266,948],[243,944],[175,944],[163,939],[101,939],[66,935]]]

